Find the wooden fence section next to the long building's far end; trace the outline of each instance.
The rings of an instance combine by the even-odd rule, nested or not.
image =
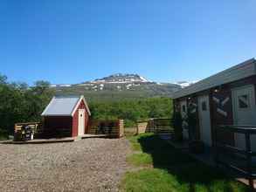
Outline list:
[[[149,119],[138,120],[136,134],[155,133],[155,134],[171,134],[173,133],[172,119]]]

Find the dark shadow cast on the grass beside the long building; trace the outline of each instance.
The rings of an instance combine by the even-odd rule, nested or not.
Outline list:
[[[155,134],[140,136],[138,142],[142,152],[151,155],[154,168],[167,170],[176,177],[177,182],[187,184],[189,191],[196,191],[198,185],[204,186],[207,191],[249,191],[249,188],[235,182],[218,168],[206,166],[189,154],[183,154]]]

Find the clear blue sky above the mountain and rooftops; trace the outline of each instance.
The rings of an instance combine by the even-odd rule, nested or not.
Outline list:
[[[2,0],[0,73],[29,84],[116,72],[203,79],[256,57],[255,0]]]

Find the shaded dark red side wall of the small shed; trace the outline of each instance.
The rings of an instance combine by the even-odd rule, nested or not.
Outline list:
[[[43,120],[43,137],[70,137],[72,135],[71,116],[46,116]]]

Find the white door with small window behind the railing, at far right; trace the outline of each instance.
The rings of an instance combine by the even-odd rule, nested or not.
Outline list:
[[[242,86],[232,90],[233,118],[235,125],[256,126],[254,86]],[[245,134],[235,134],[235,145],[245,149]],[[251,145],[256,150],[256,136],[251,137]]]

